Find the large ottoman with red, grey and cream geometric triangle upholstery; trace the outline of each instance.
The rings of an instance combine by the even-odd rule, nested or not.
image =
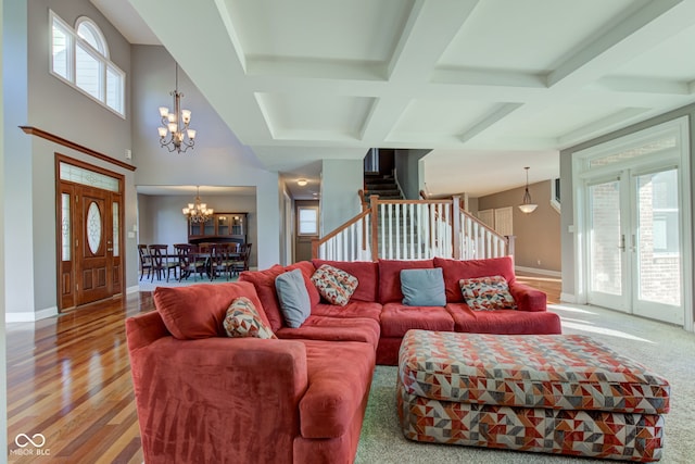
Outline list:
[[[590,337],[409,330],[399,356],[406,438],[658,461],[666,379]]]

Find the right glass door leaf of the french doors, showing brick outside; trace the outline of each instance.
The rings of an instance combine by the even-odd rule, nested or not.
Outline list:
[[[681,308],[681,240],[678,170],[636,175],[634,312],[674,324]]]

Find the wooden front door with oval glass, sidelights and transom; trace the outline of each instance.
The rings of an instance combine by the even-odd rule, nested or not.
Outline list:
[[[124,176],[56,154],[59,310],[123,291]]]

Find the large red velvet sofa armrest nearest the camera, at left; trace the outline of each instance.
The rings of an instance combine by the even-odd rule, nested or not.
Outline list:
[[[163,337],[130,362],[146,462],[292,462],[302,342]]]

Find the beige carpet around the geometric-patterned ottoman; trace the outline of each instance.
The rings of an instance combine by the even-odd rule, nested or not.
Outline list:
[[[661,463],[695,462],[695,335],[680,327],[590,306],[552,305],[565,334],[595,337],[661,374],[671,384]],[[395,409],[396,367],[377,366],[356,463],[586,463],[616,462],[484,448],[418,443],[403,438]]]

